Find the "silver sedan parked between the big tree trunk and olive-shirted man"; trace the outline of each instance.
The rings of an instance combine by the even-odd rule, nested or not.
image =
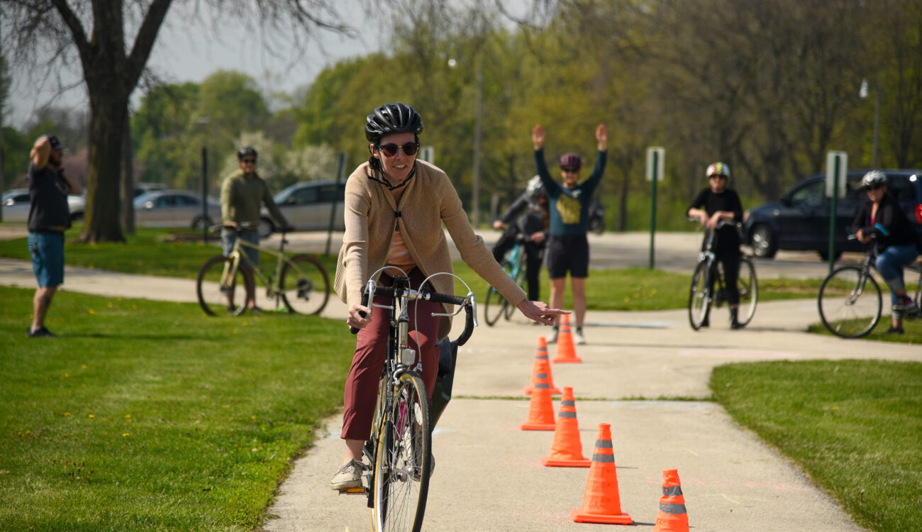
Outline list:
[[[202,213],[202,196],[186,190],[155,190],[135,198],[137,227],[191,227],[202,229],[221,221],[221,206],[208,198],[207,218]]]

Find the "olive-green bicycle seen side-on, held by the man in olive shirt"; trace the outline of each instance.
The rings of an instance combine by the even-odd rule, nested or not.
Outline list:
[[[208,315],[246,312],[246,284],[241,266],[249,266],[256,279],[263,284],[266,291],[266,305],[274,304],[277,312],[319,314],[324,310],[330,297],[330,282],[326,269],[316,258],[308,254],[285,254],[286,231],[282,231],[278,242],[278,251],[260,247],[243,241],[240,235],[254,228],[255,224],[244,222],[237,225],[218,225],[213,231],[231,229],[237,233],[237,241],[228,256],[218,255],[207,260],[198,272],[195,293],[198,304]],[[255,266],[243,248],[253,248],[261,254],[276,257],[272,272],[264,273]],[[258,293],[258,290],[257,290]],[[257,303],[259,302],[258,295]]]

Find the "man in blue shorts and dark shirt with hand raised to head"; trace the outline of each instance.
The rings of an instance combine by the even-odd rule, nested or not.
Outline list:
[[[64,231],[70,228],[68,194],[82,194],[83,186],[65,175],[64,145],[56,136],[40,136],[29,162],[29,254],[39,288],[32,301],[29,337],[55,337],[45,327],[45,315],[54,292],[64,283]]]

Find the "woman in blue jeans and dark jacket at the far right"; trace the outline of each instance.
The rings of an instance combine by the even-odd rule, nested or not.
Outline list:
[[[873,236],[877,240],[877,271],[890,287],[892,325],[888,333],[903,334],[903,316],[918,312],[916,301],[906,295],[903,284],[903,266],[913,264],[918,257],[916,231],[906,218],[903,208],[887,193],[887,175],[872,170],[861,178],[861,186],[868,192],[868,201],[858,209],[852,231],[862,243]]]

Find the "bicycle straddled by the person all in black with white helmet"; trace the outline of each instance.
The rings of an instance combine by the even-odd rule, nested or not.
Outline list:
[[[689,221],[699,221],[696,218],[687,218]],[[727,225],[739,224],[722,219],[717,223],[720,229]],[[700,329],[708,320],[711,305],[720,308],[727,302],[727,283],[724,276],[724,266],[716,262],[714,253],[717,231],[704,231],[703,250],[698,254],[698,266],[695,266],[691,276],[691,291],[689,292],[689,323],[694,330]],[[737,278],[739,290],[739,309],[737,321],[739,325],[748,325],[755,314],[755,306],[759,301],[759,285],[755,277],[755,266],[747,256],[739,257],[739,277]]]

